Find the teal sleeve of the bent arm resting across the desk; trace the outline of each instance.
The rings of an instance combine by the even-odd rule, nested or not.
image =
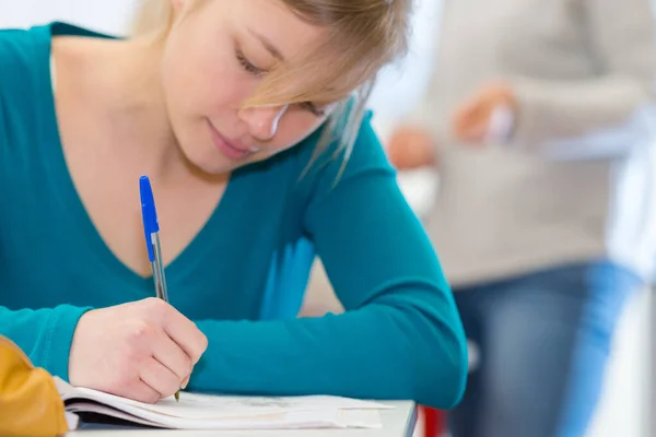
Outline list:
[[[191,388],[459,401],[468,363],[453,294],[368,123],[332,189],[340,165],[315,179],[303,223],[345,312],[197,321],[209,347]]]

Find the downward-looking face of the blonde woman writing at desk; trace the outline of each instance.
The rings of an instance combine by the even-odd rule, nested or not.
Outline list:
[[[229,173],[280,153],[333,109],[312,102],[244,109],[277,62],[326,35],[279,0],[171,0],[178,20],[164,48],[163,88],[183,153],[206,173]],[[183,17],[179,20],[179,17]]]

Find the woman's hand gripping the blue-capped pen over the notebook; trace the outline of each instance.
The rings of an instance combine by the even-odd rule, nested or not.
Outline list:
[[[69,380],[154,403],[185,388],[207,336],[159,298],[86,312],[75,328]]]

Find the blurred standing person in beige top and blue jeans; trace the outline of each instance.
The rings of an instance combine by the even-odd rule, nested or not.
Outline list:
[[[433,166],[426,226],[480,363],[454,437],[585,434],[653,258],[649,0],[446,0],[434,75],[389,138]]]

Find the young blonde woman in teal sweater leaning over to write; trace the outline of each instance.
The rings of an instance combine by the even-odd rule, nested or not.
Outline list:
[[[75,386],[449,408],[453,295],[364,104],[408,0],[155,0],[0,33],[0,333]],[[155,299],[153,181],[171,305]],[[297,319],[319,256],[348,311]]]

